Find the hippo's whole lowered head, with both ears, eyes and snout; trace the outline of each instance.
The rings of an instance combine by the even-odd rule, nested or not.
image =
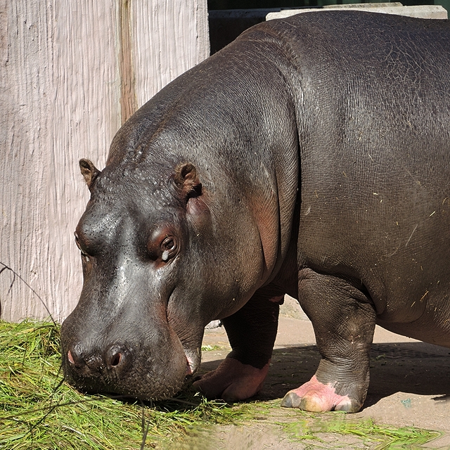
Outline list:
[[[253,292],[233,267],[212,267],[248,255],[217,245],[233,238],[217,236],[190,162],[80,166],[91,198],[75,232],[84,284],[61,330],[65,378],[84,392],[171,397],[200,364],[205,325]],[[245,273],[260,276],[257,266]]]

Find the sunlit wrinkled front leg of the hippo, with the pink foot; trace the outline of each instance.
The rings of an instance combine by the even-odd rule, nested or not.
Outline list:
[[[282,406],[306,411],[356,412],[366,399],[375,310],[344,277],[302,269],[299,298],[311,319],[322,359],[316,374],[285,395]],[[362,286],[361,286],[362,288]]]

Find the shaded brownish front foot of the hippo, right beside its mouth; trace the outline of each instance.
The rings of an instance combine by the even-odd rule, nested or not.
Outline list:
[[[212,372],[193,383],[198,392],[208,399],[223,399],[227,403],[245,400],[257,394],[269,371],[269,363],[258,369],[227,358]]]

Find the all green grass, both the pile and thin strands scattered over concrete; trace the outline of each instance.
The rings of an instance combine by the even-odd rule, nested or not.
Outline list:
[[[59,332],[53,323],[0,321],[0,449],[198,449],[200,442],[210,449],[214,425],[251,427],[255,419],[314,449],[348,448],[323,441],[324,433],[351,435],[377,450],[418,449],[439,435],[281,409],[278,399],[229,406],[188,391],[144,405],[86,396],[63,383]]]

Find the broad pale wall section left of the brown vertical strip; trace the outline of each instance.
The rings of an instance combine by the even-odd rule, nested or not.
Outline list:
[[[78,160],[89,155],[102,165],[120,126],[112,6],[6,2],[0,262],[32,286],[56,319],[72,309],[82,281],[72,233],[89,195]],[[48,316],[37,295],[4,271],[1,318]]]

